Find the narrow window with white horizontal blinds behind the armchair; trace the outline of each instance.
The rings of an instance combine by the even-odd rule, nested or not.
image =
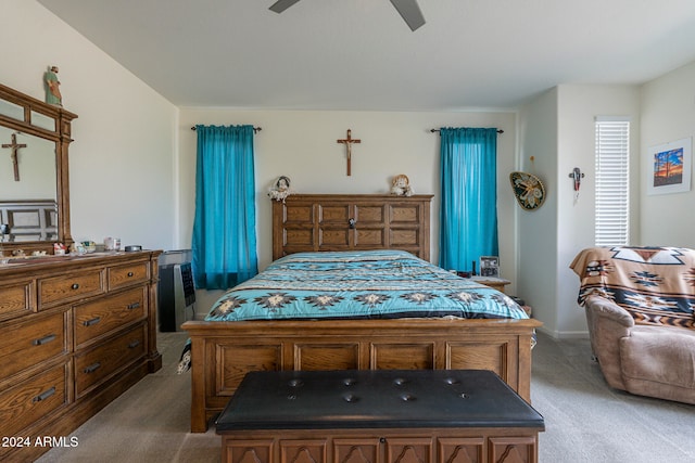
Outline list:
[[[630,121],[596,118],[596,246],[629,244]]]

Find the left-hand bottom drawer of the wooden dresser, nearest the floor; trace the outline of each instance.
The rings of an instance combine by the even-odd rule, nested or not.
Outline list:
[[[66,384],[67,363],[62,363],[0,393],[0,436],[18,436],[31,423],[67,406]]]

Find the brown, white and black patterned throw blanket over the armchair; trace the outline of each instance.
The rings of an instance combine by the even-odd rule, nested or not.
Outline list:
[[[681,247],[592,247],[570,268],[579,275],[578,301],[598,294],[626,309],[635,323],[695,330],[695,250]]]

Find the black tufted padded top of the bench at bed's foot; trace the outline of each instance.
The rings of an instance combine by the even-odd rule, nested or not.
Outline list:
[[[536,427],[543,416],[484,370],[251,372],[217,432]]]

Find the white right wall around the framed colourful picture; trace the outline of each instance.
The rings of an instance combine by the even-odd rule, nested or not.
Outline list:
[[[695,248],[695,215],[692,214],[695,189],[691,185],[688,192],[647,194],[647,178],[653,168],[649,147],[692,139],[694,132],[695,63],[691,63],[642,88],[640,229],[644,245]]]

